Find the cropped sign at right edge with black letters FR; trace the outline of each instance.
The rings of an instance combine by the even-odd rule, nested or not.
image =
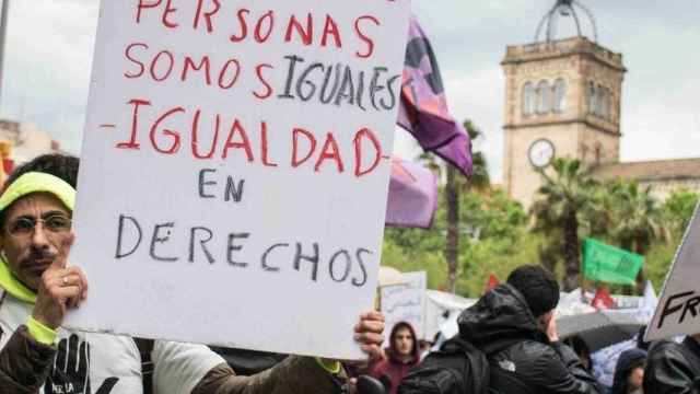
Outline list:
[[[700,204],[666,276],[645,340],[700,333]]]

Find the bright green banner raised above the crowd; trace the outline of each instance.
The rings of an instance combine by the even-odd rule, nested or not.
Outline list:
[[[644,256],[606,245],[593,239],[583,241],[583,274],[608,283],[634,285]]]

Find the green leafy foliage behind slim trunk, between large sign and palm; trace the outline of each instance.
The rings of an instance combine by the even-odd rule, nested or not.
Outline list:
[[[522,262],[535,263],[536,242],[534,235],[528,236],[527,213],[503,190],[463,193],[459,198],[460,269],[456,292],[478,297],[491,273],[504,278]],[[441,204],[430,230],[386,229],[383,264],[401,271],[424,269],[431,288],[448,290],[447,263],[442,253],[445,234],[446,207]]]

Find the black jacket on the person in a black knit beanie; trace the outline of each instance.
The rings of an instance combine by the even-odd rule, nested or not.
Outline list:
[[[510,285],[487,292],[458,324],[459,335],[487,354],[497,393],[604,393],[571,348],[550,344],[538,331],[525,299]]]

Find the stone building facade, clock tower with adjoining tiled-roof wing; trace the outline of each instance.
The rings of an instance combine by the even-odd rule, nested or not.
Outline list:
[[[510,196],[528,208],[538,169],[556,157],[579,159],[599,179],[622,177],[666,198],[700,192],[700,159],[620,163],[622,55],[578,36],[509,46],[505,73],[504,176]],[[631,131],[633,132],[633,130]]]

